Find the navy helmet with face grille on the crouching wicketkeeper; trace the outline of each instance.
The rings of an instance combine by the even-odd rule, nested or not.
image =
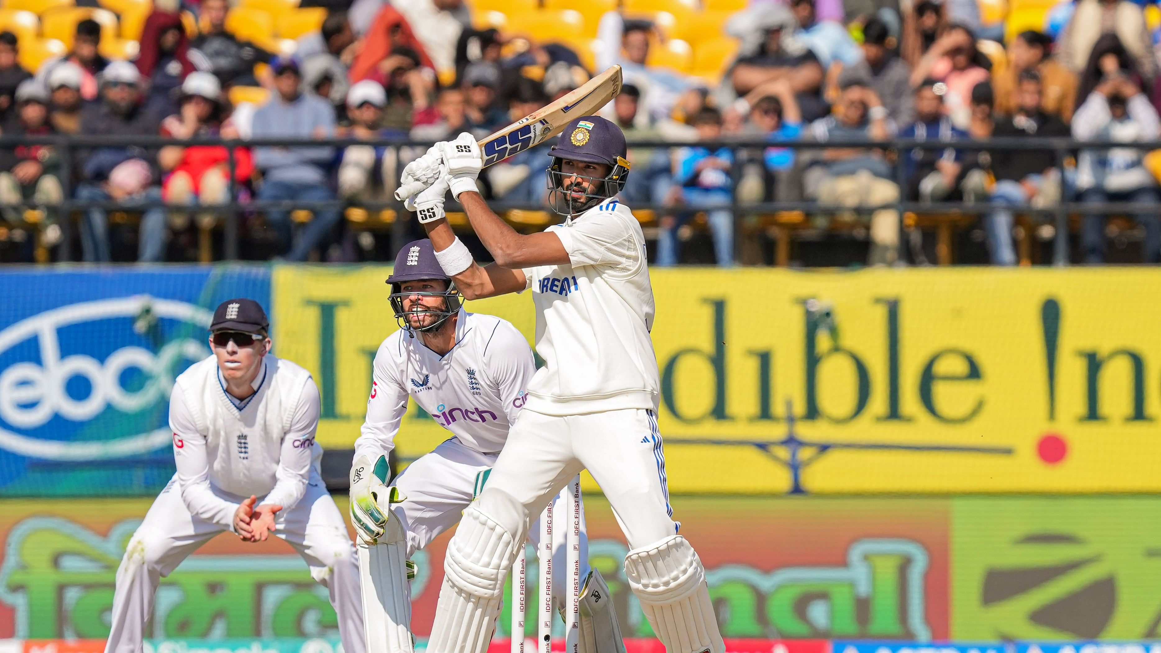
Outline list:
[[[403,292],[404,282],[420,280],[447,281],[447,288],[444,290]],[[395,268],[391,270],[391,275],[387,278],[387,282],[391,285],[390,302],[391,308],[395,310],[395,318],[399,322],[399,328],[405,329],[412,337],[414,337],[416,331],[438,330],[449,317],[460,310],[460,290],[455,289],[455,282],[444,272],[439,260],[435,258],[435,247],[432,246],[432,242],[427,238],[412,241],[403,245],[399,254],[395,257]],[[423,302],[414,302],[409,313],[404,309],[403,300],[413,295],[444,297],[444,308],[432,308],[425,306]],[[434,314],[437,318],[431,324],[424,326],[423,314],[427,313]],[[412,324],[408,320],[409,315],[418,325]]]

